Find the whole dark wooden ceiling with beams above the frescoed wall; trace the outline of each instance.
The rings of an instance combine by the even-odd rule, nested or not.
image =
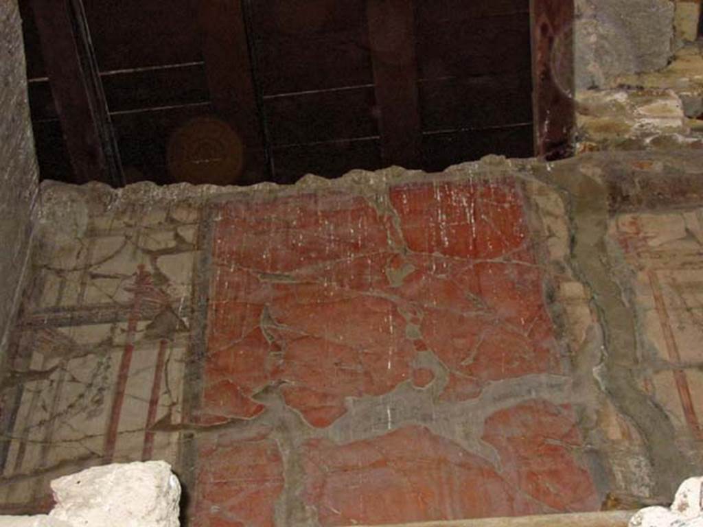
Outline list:
[[[530,4],[20,0],[41,175],[290,183],[528,157]]]

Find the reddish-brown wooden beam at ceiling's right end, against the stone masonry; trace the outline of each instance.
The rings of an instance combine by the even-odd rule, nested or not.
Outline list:
[[[531,0],[535,154],[574,153],[574,0]]]

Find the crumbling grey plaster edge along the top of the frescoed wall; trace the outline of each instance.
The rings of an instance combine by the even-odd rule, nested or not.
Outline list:
[[[158,186],[151,181],[132,183],[122,188],[112,188],[105,183],[91,181],[82,185],[62,183],[60,181],[44,180],[39,186],[37,214],[35,221],[41,223],[42,219],[50,216],[52,209],[60,202],[66,204],[66,193],[75,193],[75,198],[91,198],[90,214],[105,214],[106,212],[120,212],[124,209],[139,207],[165,207],[169,204],[186,203],[203,205],[207,202],[225,202],[238,197],[256,196],[257,199],[286,197],[314,193],[316,190],[333,192],[349,192],[354,194],[369,195],[391,185],[404,183],[441,183],[443,181],[462,181],[470,178],[483,178],[484,180],[498,179],[510,176],[516,180],[538,180],[550,186],[568,192],[568,186],[574,181],[579,181],[583,175],[579,167],[598,163],[607,164],[613,160],[630,162],[644,158],[689,162],[690,158],[698,156],[703,162],[703,152],[695,150],[628,150],[619,152],[586,152],[576,157],[555,162],[546,162],[536,157],[508,159],[498,155],[488,155],[479,161],[464,162],[446,168],[444,171],[425,172],[403,167],[387,167],[376,171],[356,169],[347,172],[340,178],[328,179],[314,174],[306,174],[299,181],[292,184],[257,183],[252,186],[215,186],[192,185],[191,183],[175,183],[172,185]],[[703,166],[703,165],[702,165]],[[569,178],[560,181],[551,181],[550,174],[569,171]],[[544,176],[536,176],[546,171]],[[690,170],[689,170],[690,172]],[[700,171],[696,171],[699,173]],[[572,183],[567,183],[572,181]],[[607,174],[604,174],[604,181]]]

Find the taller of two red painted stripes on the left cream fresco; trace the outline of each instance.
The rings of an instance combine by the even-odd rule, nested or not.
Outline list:
[[[110,462],[115,455],[115,444],[117,443],[117,430],[120,427],[120,413],[124,403],[124,392],[127,389],[127,378],[129,377],[129,366],[131,365],[132,353],[134,353],[134,335],[139,320],[141,309],[142,287],[147,282],[149,273],[144,271],[144,266],[138,266],[136,278],[134,279],[134,303],[129,311],[127,321],[127,335],[120,361],[120,370],[117,373],[117,385],[115,386],[115,396],[112,398],[112,410],[110,411],[110,422],[108,433],[105,434],[105,452],[103,458]]]

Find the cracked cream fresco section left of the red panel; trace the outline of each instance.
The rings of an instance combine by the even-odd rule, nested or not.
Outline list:
[[[4,486],[5,502],[44,499],[53,467],[176,462],[168,429],[181,422],[196,232],[176,216],[93,218],[37,259],[11,347],[2,452],[4,476],[34,477]]]

